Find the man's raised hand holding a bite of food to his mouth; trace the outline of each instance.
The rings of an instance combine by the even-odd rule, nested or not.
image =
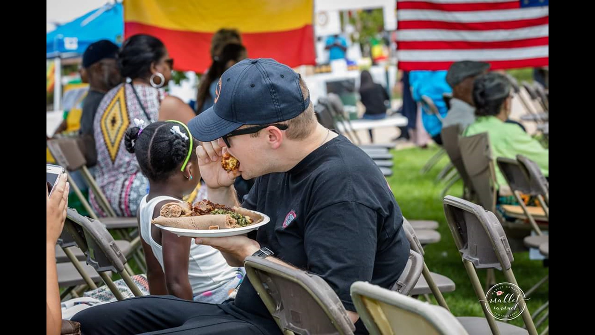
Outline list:
[[[198,166],[201,169],[202,179],[209,188],[229,187],[240,175],[238,170],[227,172],[221,166],[221,157],[227,152],[227,147],[220,147],[218,142],[202,142],[196,147]]]

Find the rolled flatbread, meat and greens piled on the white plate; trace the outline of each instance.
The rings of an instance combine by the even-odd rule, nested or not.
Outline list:
[[[206,199],[193,207],[186,207],[181,203],[167,203],[161,207],[159,213],[161,215],[151,221],[153,224],[182,229],[240,228],[258,224],[264,219],[250,210],[216,204]]]

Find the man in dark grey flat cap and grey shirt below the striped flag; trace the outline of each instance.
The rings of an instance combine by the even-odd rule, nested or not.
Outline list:
[[[490,64],[469,60],[457,61],[450,66],[446,73],[446,82],[452,87],[452,99],[442,122],[442,129],[453,125],[461,125],[461,129],[464,129],[475,122],[475,107],[471,95],[473,81],[488,69]]]

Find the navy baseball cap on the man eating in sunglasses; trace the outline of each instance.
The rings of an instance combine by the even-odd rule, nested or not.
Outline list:
[[[214,141],[242,125],[270,125],[293,119],[306,110],[300,75],[271,58],[240,61],[223,73],[214,104],[188,123],[199,141]]]

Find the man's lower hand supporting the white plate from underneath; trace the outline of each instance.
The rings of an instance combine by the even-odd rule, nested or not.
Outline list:
[[[197,237],[196,244],[204,244],[219,250],[230,266],[244,266],[246,257],[260,249],[260,244],[245,235],[229,237]]]

